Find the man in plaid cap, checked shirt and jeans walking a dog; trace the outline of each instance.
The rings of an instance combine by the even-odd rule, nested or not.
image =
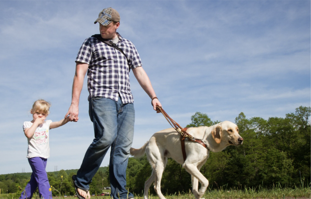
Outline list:
[[[77,196],[90,198],[89,184],[111,147],[109,175],[111,196],[133,198],[126,190],[126,168],[134,134],[135,110],[130,90],[129,72],[151,98],[153,109],[161,103],[151,86],[135,46],[116,32],[119,13],[109,7],[98,19],[101,38],[89,37],[82,44],[76,58],[76,73],[72,86],[72,102],[65,117],[78,118],[79,99],[87,72],[89,114],[94,124],[95,139],[86,151],[77,176],[73,176]],[[112,41],[123,53],[100,40]]]

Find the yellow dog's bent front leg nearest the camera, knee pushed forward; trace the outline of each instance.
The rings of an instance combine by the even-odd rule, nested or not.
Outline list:
[[[186,160],[187,161],[187,160]],[[198,191],[193,192],[193,195],[196,199],[203,199],[201,198],[207,187],[208,187],[208,180],[200,173],[197,167],[193,164],[187,164],[186,162],[183,164],[183,168],[185,168],[189,174],[191,174],[194,178],[197,178],[201,183],[201,188]]]

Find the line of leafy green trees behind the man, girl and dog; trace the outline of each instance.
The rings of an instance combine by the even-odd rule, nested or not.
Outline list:
[[[209,180],[210,188],[236,188],[275,184],[294,186],[302,181],[311,182],[311,108],[300,106],[295,113],[285,118],[246,118],[240,113],[235,118],[239,133],[244,138],[243,145],[229,146],[222,152],[210,153],[201,173]],[[211,126],[219,121],[211,121],[205,113],[197,112],[191,117],[187,127]],[[53,195],[74,195],[72,175],[77,170],[48,172]],[[3,193],[18,192],[30,179],[30,174],[0,175],[0,189]],[[151,167],[146,159],[129,158],[127,187],[131,192],[141,194],[145,181],[151,175]],[[62,178],[63,176],[63,178]],[[108,167],[101,167],[90,184],[91,193],[102,192],[109,185]],[[56,189],[56,190],[54,190]],[[169,159],[161,181],[162,192],[188,192],[191,190],[191,176],[174,160]],[[60,193],[59,193],[60,192]],[[151,193],[155,193],[150,188]]]

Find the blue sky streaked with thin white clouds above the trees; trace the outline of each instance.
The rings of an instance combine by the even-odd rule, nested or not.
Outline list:
[[[163,109],[182,127],[196,112],[212,121],[285,117],[311,106],[311,1],[0,0],[0,174],[31,172],[22,126],[37,99],[47,119],[71,103],[75,59],[99,33],[99,12],[120,13],[118,33],[135,45]],[[133,147],[169,128],[133,73]],[[46,171],[79,169],[94,139],[86,79],[79,121],[50,130]],[[109,152],[101,166],[109,164]]]

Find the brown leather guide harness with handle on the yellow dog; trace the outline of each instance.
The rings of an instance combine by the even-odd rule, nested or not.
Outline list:
[[[188,128],[181,127],[177,122],[175,122],[169,115],[162,109],[160,106],[156,106],[157,113],[162,113],[165,119],[169,122],[169,124],[180,134],[180,141],[181,141],[181,150],[183,152],[183,160],[186,161],[187,155],[185,150],[185,141],[193,141],[201,144],[207,150],[210,150],[205,141],[203,140],[205,137],[205,133],[202,139],[194,138],[192,135],[187,133]],[[180,129],[180,130],[179,130]]]

